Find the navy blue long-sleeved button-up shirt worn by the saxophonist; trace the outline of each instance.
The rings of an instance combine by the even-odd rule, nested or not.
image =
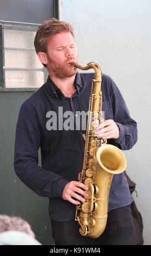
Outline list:
[[[84,144],[82,129],[64,129],[66,111],[88,111],[92,73],[77,73],[76,93],[64,97],[62,92],[47,82],[25,100],[19,111],[15,141],[15,172],[24,184],[42,197],[49,197],[51,220],[70,221],[75,218],[75,205],[62,199],[64,186],[78,180],[83,167]],[[104,118],[113,119],[120,129],[117,139],[109,144],[128,150],[137,141],[137,124],[130,117],[126,103],[114,81],[102,76],[102,111]],[[53,112],[52,112],[53,111]],[[51,114],[57,124],[51,123]],[[53,125],[53,130],[50,126]],[[38,166],[38,150],[41,149],[42,167]],[[123,173],[115,174],[111,183],[108,211],[132,203],[127,180]]]

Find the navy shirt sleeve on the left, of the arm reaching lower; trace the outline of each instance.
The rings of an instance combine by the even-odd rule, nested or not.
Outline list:
[[[69,182],[62,176],[38,166],[41,132],[36,116],[24,106],[19,111],[14,168],[19,179],[32,191],[43,197],[62,198],[64,186]]]

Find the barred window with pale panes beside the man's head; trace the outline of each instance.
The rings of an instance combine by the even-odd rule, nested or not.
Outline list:
[[[34,47],[38,26],[0,21],[1,91],[34,91],[45,82],[48,72]]]

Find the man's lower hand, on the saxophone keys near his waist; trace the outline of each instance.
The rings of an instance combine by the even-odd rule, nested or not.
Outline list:
[[[84,185],[82,182],[70,181],[65,185],[62,197],[64,200],[68,200],[73,204],[79,204],[79,202],[74,200],[72,197],[84,203],[86,199],[79,196],[79,194],[82,194],[84,197],[88,197],[88,193],[86,192],[87,190],[89,190],[88,186]]]

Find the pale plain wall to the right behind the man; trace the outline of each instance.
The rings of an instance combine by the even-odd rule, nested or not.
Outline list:
[[[150,0],[62,0],[62,20],[70,22],[76,34],[78,62],[99,62],[137,121],[138,141],[124,153],[127,173],[136,183],[138,197],[135,192],[133,197],[143,218],[145,245],[151,245],[150,14]]]

